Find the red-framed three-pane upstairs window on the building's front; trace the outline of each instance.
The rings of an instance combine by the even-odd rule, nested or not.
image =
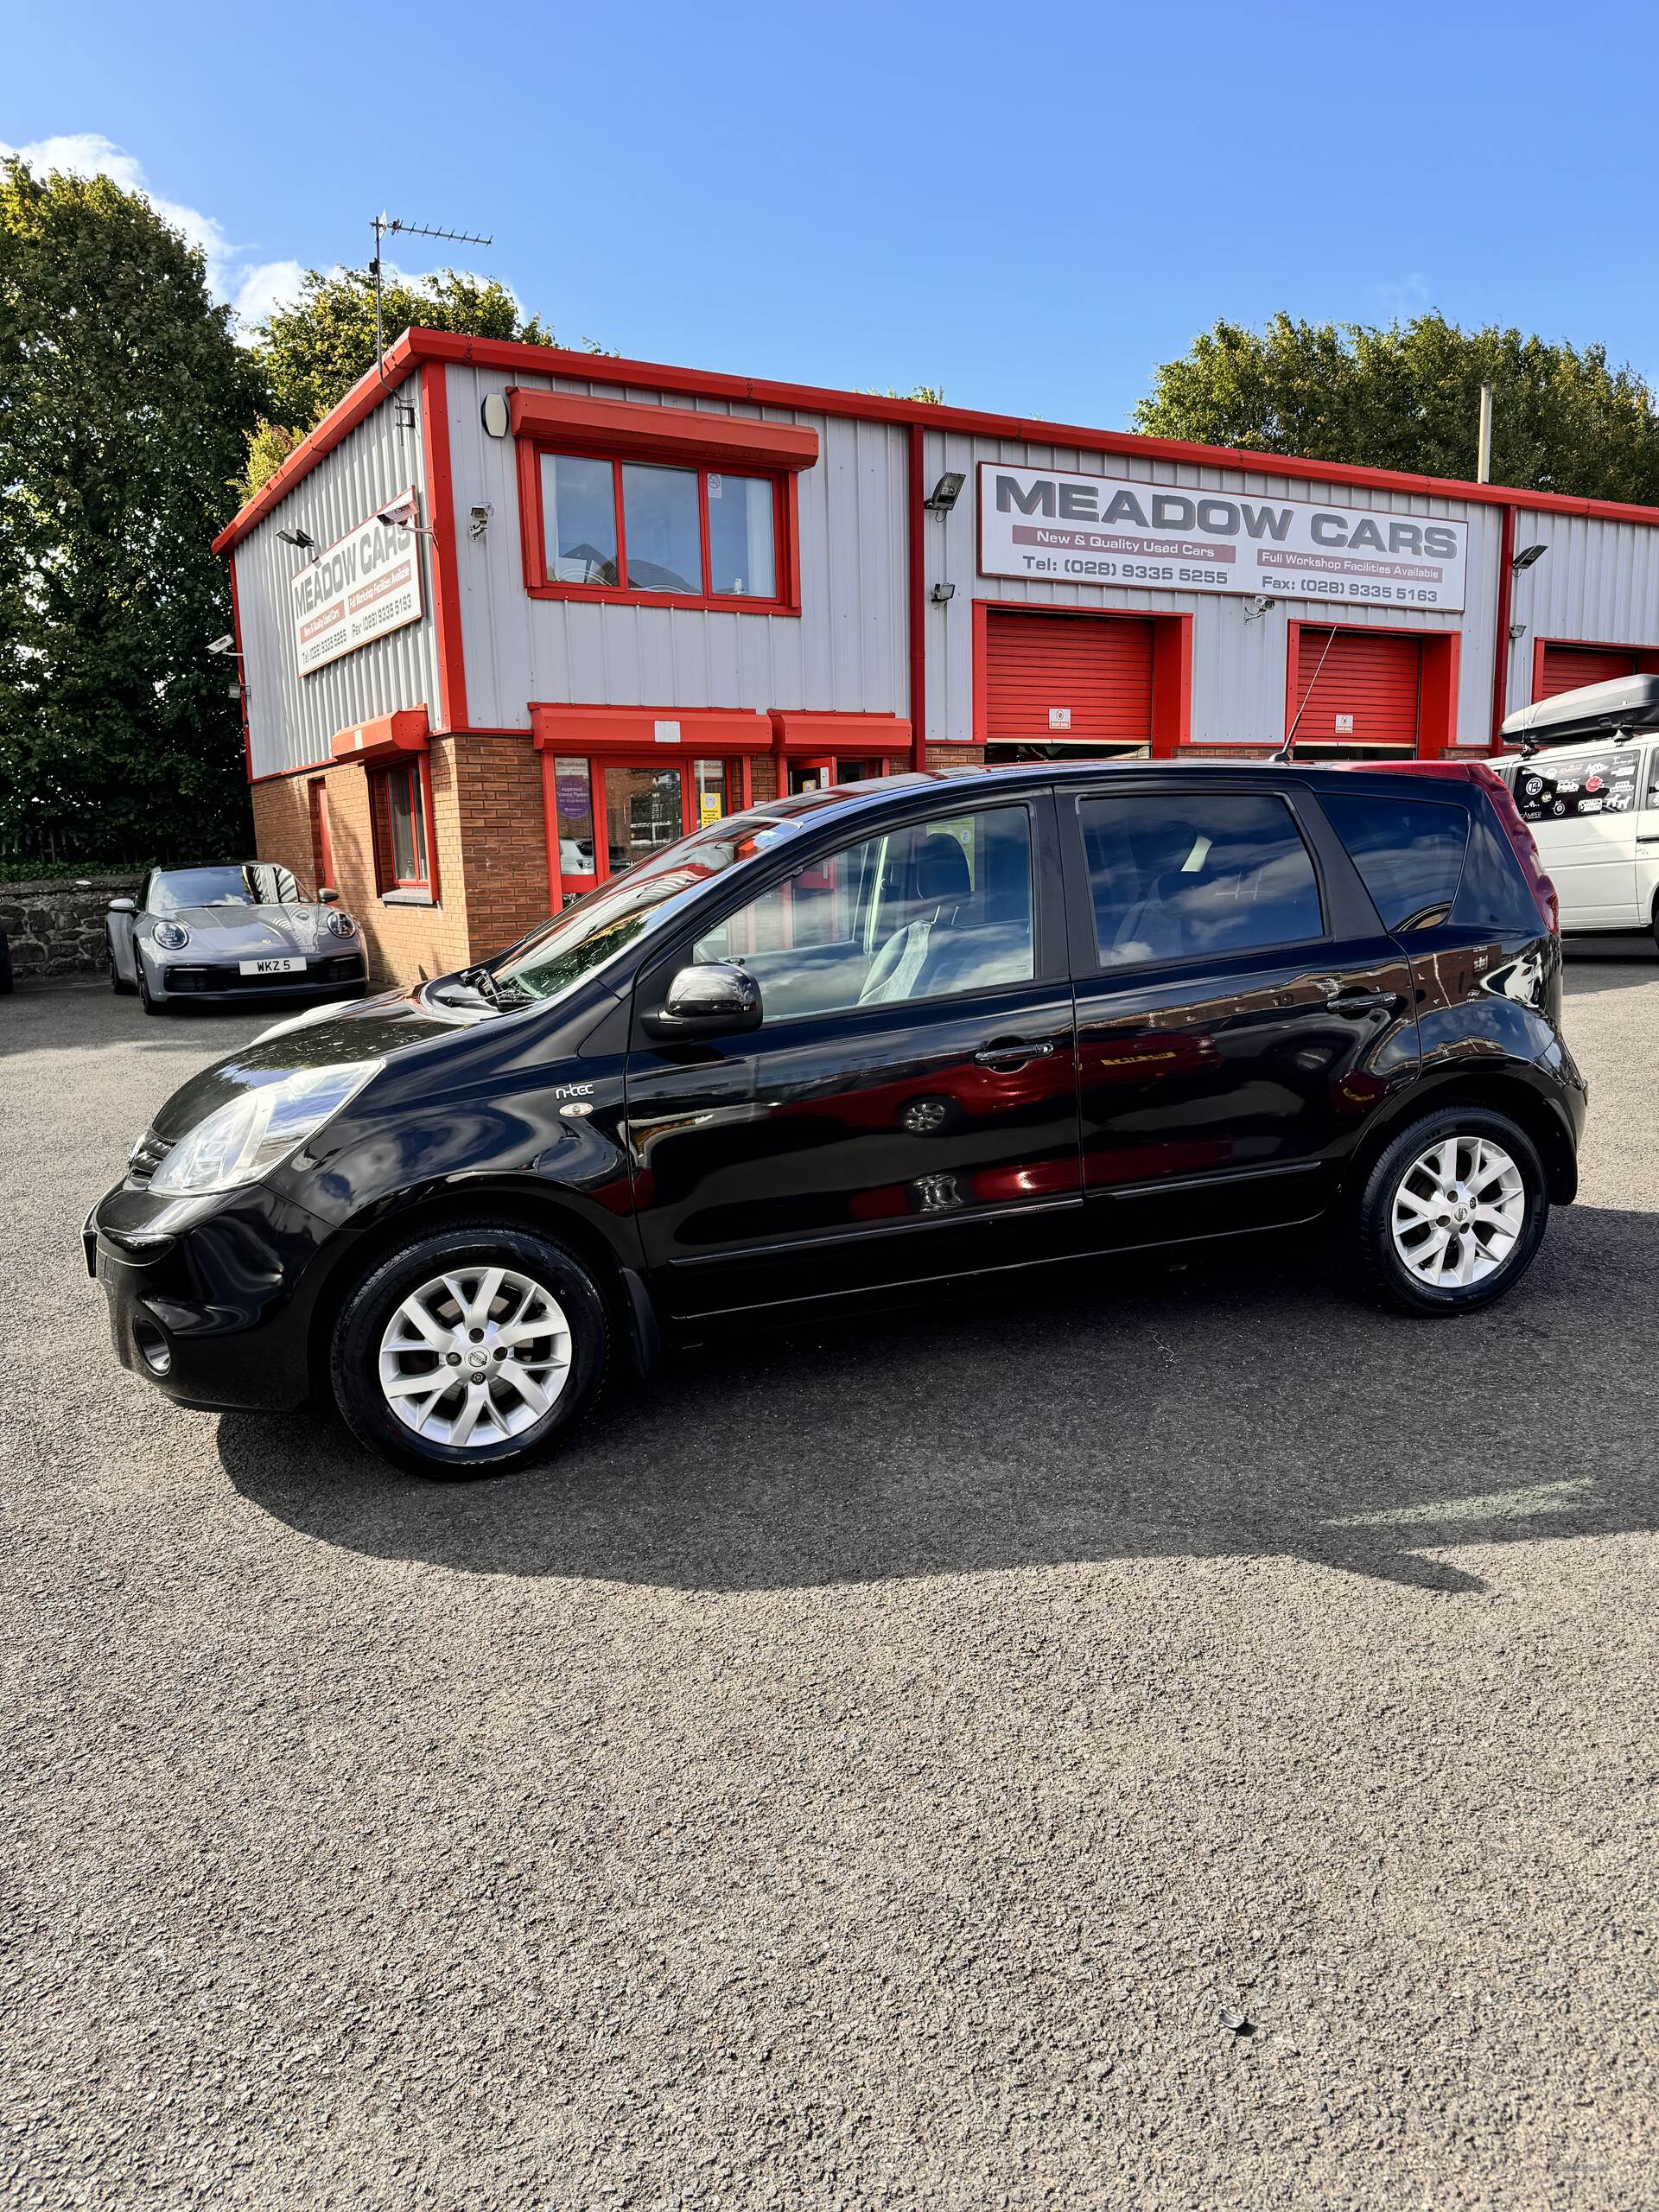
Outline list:
[[[776,611],[785,482],[728,469],[540,456],[542,591]]]

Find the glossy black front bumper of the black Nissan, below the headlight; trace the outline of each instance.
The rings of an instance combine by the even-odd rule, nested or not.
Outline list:
[[[161,1206],[117,1183],[82,1225],[122,1367],[179,1405],[283,1411],[310,1398],[323,1225],[252,1186]]]

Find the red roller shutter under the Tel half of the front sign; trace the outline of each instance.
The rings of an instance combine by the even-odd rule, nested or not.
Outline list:
[[[1137,615],[987,615],[984,690],[991,743],[1152,737],[1152,624]],[[1048,721],[1053,708],[1071,714]]]

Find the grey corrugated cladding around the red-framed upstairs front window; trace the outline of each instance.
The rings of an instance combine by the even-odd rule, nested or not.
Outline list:
[[[509,385],[816,429],[818,465],[801,476],[801,615],[529,597],[513,440],[489,438],[478,414],[487,392]],[[451,365],[447,389],[467,717],[476,728],[524,730],[531,699],[909,714],[902,429],[790,407],[688,400],[606,383],[602,374],[509,376]],[[495,509],[482,538],[467,535],[469,507]]]

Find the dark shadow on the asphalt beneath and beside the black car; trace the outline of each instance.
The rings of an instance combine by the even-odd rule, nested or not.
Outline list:
[[[219,1451],[290,1526],[458,1573],[763,1590],[1290,1555],[1460,1593],[1480,1575],[1438,1553],[1655,1526],[1630,1329],[1655,1292],[1655,1217],[1597,1208],[1460,1323],[1380,1314],[1287,1245],[1124,1256],[734,1329],[515,1478],[400,1475],[321,1416],[223,1416]]]

